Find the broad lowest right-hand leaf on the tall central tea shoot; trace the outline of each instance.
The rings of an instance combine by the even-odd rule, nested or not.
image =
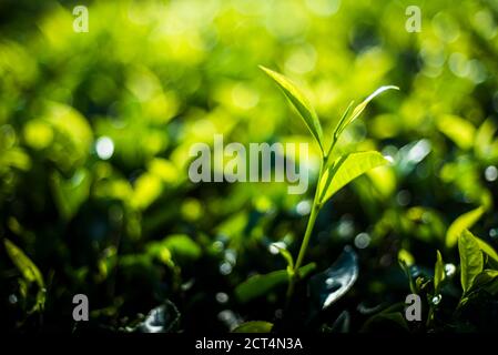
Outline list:
[[[349,153],[338,158],[325,170],[319,181],[319,203],[325,203],[352,180],[387,163],[388,160],[375,151]]]

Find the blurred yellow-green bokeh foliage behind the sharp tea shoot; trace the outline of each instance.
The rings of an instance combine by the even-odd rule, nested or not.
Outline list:
[[[73,31],[77,4],[89,9],[88,33]],[[410,4],[421,10],[418,33],[405,29]],[[131,331],[162,304],[183,331],[278,317],[282,290],[243,304],[234,288],[285,268],[271,243],[297,253],[318,152],[258,64],[292,78],[326,136],[350,100],[400,88],[341,141],[394,163],[318,216],[307,260],[323,270],[348,244],[360,268],[316,329],[347,313],[355,332],[368,310],[403,302],[399,251],[429,273],[436,250],[458,266],[445,236],[465,212],[482,206],[472,232],[496,247],[497,23],[495,0],[1,1],[0,237],[39,274],[17,267],[2,243],[0,326]],[[308,193],[191,183],[189,149],[215,133],[309,142]],[[90,300],[84,325],[71,316],[77,293]],[[496,327],[497,301],[486,304],[489,320],[475,313],[466,327]]]

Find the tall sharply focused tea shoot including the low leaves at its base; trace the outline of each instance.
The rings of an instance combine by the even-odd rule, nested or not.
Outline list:
[[[302,265],[305,260],[306,250],[308,247],[316,217],[321,209],[337,191],[347,185],[350,181],[366,173],[370,169],[385,165],[389,162],[377,151],[357,151],[346,154],[336,153],[334,149],[342,133],[363,113],[365,108],[373,99],[387,90],[398,90],[398,88],[393,85],[382,87],[354,109],[354,102],[352,101],[346,111],[343,113],[341,120],[336,124],[334,131],[332,132],[332,139],[327,144],[327,140],[324,138],[318,116],[304,94],[292,83],[291,80],[288,80],[283,74],[264,67],[260,68],[282,89],[285,97],[289,100],[291,104],[296,109],[299,116],[308,128],[311,134],[318,144],[321,152],[321,168],[318,173],[317,187],[315,190],[309,219],[301,243],[297,260],[294,262],[294,257],[287,250],[278,247],[280,253],[285,257],[287,262],[287,270],[263,276],[253,276],[245,283],[241,284],[236,290],[240,298],[242,298],[243,301],[248,301],[255,296],[263,294],[264,292],[267,292],[276,284],[288,281],[286,293],[288,306],[299,278],[315,268],[315,265],[313,263],[306,266]],[[318,295],[318,298],[322,298],[319,302],[322,303],[323,308],[328,307],[332,303],[337,301],[344,293],[347,292],[347,290],[349,290],[349,287],[356,281],[356,255],[353,250],[346,248],[336,264],[334,264],[324,273],[324,275],[326,276],[325,280],[333,280],[333,283],[335,284],[328,285],[328,287],[326,287],[326,291],[328,291],[326,292],[326,296]],[[314,276],[312,283],[321,283],[321,277],[317,276],[319,275]],[[328,283],[331,284],[331,282]]]

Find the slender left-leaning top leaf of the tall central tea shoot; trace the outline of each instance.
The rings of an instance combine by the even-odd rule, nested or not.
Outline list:
[[[304,120],[304,123],[309,129],[313,136],[318,142],[322,152],[324,152],[322,125],[319,124],[318,116],[316,115],[315,110],[309,104],[304,94],[294,85],[294,83],[291,82],[291,80],[288,80],[281,73],[277,73],[263,65],[260,65],[260,68],[278,84],[284,94],[287,97],[287,99],[291,101],[293,106],[297,110],[297,112]]]

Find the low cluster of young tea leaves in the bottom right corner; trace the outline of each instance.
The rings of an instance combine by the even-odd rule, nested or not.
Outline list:
[[[456,222],[461,223],[461,219]],[[455,232],[455,223],[449,230]],[[436,252],[433,275],[420,272],[413,258],[406,257],[405,251],[399,255],[399,263],[408,276],[411,292],[421,297],[424,308],[428,310],[424,322],[418,324],[418,331],[469,331],[470,325],[466,321],[469,313],[479,303],[492,303],[498,294],[498,253],[467,229],[458,232],[457,244],[460,258],[459,297],[450,283],[456,275],[456,266],[445,264],[439,251]],[[394,314],[396,312],[390,314],[392,318]],[[406,324],[404,326],[407,327]]]

